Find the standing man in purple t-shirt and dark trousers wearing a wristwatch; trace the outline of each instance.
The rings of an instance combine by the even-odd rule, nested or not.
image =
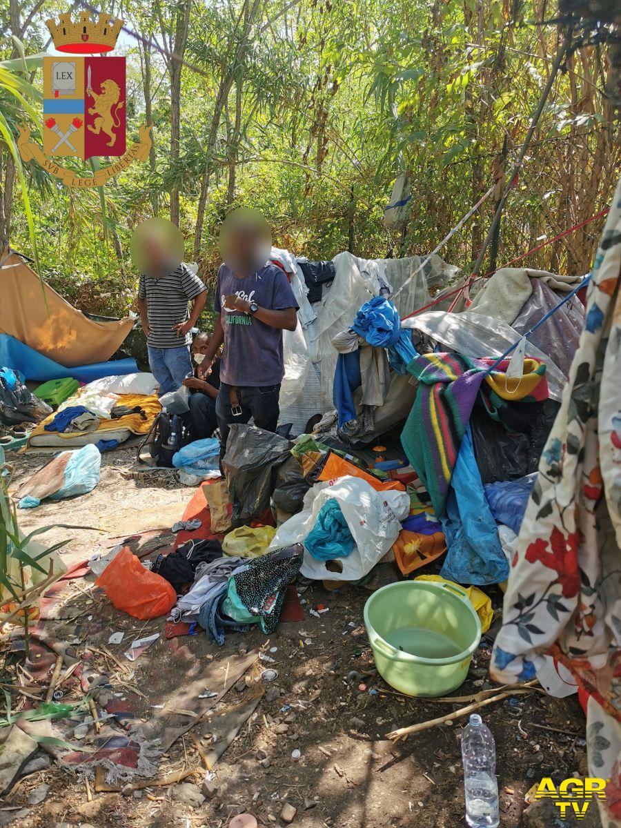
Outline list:
[[[298,307],[280,267],[262,257],[258,265],[258,229],[239,222],[229,233],[234,253],[218,272],[214,310],[219,316],[205,354],[209,368],[224,342],[215,406],[223,449],[233,422],[253,417],[259,428],[276,431],[284,375],[282,331],[296,330]]]

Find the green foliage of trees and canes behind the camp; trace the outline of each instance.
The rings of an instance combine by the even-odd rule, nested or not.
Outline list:
[[[65,6],[43,2],[23,35],[25,55],[43,51],[42,22]],[[145,119],[148,94],[151,161],[134,163],[101,194],[70,190],[34,163],[22,171],[18,162],[26,200],[14,208],[12,245],[34,249],[31,209],[41,272],[86,311],[127,313],[137,282],[128,258],[132,229],[154,204],[167,215],[173,188],[180,190],[187,258],[198,250],[208,280],[219,265],[219,222],[238,205],[262,210],[274,242],[310,258],[331,258],[350,239],[363,257],[430,251],[493,183],[505,142],[508,161],[515,156],[558,35],[555,26],[539,25],[549,17],[541,0],[258,0],[256,8],[254,0],[193,2],[180,157],[172,164],[170,66],[162,47],[164,36],[174,40],[177,7],[171,0],[123,3],[126,25],[144,39],[125,35],[118,49],[128,55],[128,143]],[[0,132],[11,147],[20,119],[33,129],[41,119],[41,71],[38,57],[8,60],[13,41],[3,47]],[[498,263],[609,199],[621,144],[602,94],[607,65],[599,47],[585,47],[557,79],[509,200]],[[216,112],[225,79],[229,91]],[[405,232],[391,236],[383,210],[403,169],[412,176],[412,215]],[[485,205],[443,256],[467,269],[492,212]],[[585,272],[600,229],[590,225],[528,263]]]

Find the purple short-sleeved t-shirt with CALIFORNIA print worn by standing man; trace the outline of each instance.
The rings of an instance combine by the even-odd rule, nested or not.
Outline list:
[[[236,294],[267,310],[296,308],[296,297],[280,267],[267,263],[252,276],[239,278],[223,264],[218,272],[214,310],[224,330],[224,354],[220,379],[227,385],[277,385],[285,373],[282,330],[265,325],[252,314],[227,310],[224,297]]]

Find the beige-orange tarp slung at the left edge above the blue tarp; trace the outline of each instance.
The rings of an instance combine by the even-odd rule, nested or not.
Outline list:
[[[106,362],[132,330],[131,319],[94,322],[49,285],[41,290],[39,277],[17,253],[5,251],[0,262],[0,334],[73,368]]]

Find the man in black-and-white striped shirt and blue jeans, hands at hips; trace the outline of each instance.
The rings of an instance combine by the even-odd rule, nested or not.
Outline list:
[[[183,262],[171,265],[164,245],[155,239],[149,239],[143,254],[147,267],[140,274],[138,309],[147,336],[149,366],[161,397],[194,376],[190,331],[205,307],[207,288]]]

